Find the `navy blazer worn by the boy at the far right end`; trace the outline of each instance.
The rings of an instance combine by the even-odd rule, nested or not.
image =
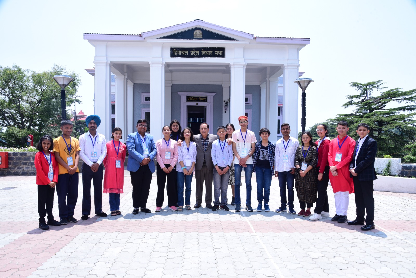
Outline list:
[[[351,164],[349,168],[354,168],[355,154],[357,153],[357,144],[358,140],[355,141],[354,154],[352,156]],[[364,143],[361,146],[360,152],[357,156],[357,167],[355,167],[354,172],[358,174],[359,181],[372,181],[377,179],[376,169],[374,169],[374,161],[376,160],[377,154],[377,142],[367,136],[364,140]],[[352,174],[350,173],[350,177]]]

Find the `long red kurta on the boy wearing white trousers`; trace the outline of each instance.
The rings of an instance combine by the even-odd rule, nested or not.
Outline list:
[[[329,180],[331,181],[332,190],[334,191],[334,193],[338,191],[348,191],[351,194],[354,193],[354,183],[352,181],[352,178],[349,177],[349,164],[352,161],[352,155],[354,153],[355,148],[355,140],[349,136],[347,137],[347,139],[345,139],[345,137],[342,138],[342,140],[339,140],[339,145],[342,144],[342,141],[344,141],[344,139],[345,141],[344,144],[342,144],[340,150],[338,146],[338,139],[339,136],[331,140],[328,151],[329,167],[336,165],[338,176],[332,176],[332,173],[329,172]],[[337,152],[342,153],[341,161],[335,161],[335,156]]]

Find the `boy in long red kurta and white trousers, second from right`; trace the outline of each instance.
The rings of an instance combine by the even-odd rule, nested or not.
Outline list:
[[[345,223],[349,204],[349,194],[354,192],[354,183],[349,177],[349,164],[355,148],[355,140],[347,135],[348,123],[337,124],[338,137],[329,144],[328,164],[329,180],[335,197],[335,216],[332,221]]]

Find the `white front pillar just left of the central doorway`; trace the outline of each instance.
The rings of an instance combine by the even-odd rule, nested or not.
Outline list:
[[[150,130],[157,141],[162,138],[161,128],[165,119],[165,62],[150,64]],[[152,100],[153,99],[153,100]]]

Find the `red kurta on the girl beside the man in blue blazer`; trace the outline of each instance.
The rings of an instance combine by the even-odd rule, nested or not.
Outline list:
[[[116,149],[119,148],[119,142],[114,141],[116,149],[114,149],[114,140],[108,141],[107,156],[103,163],[105,167],[104,173],[104,190],[103,193],[124,193],[124,160],[126,159],[126,145],[120,142],[119,155]],[[121,160],[121,168],[116,168],[116,158]]]

